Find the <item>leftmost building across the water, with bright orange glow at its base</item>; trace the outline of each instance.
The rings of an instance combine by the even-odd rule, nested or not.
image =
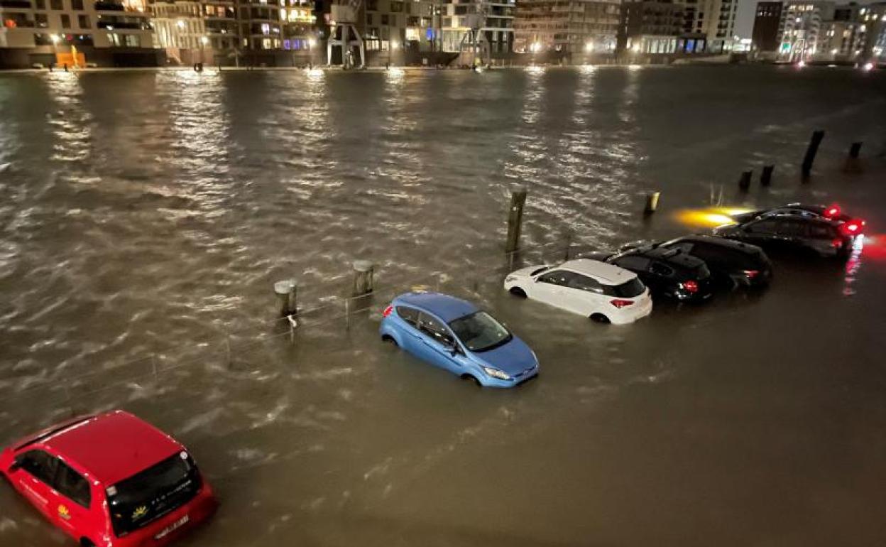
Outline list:
[[[0,66],[156,66],[146,6],[121,0],[0,0]]]

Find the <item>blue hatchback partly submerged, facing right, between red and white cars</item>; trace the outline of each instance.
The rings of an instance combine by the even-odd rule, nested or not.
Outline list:
[[[532,349],[493,316],[440,293],[405,293],[385,309],[382,340],[486,387],[515,387],[539,373]]]

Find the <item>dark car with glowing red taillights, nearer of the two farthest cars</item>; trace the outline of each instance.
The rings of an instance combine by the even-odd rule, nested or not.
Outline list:
[[[774,214],[754,217],[714,230],[720,238],[736,239],[766,248],[812,251],[820,256],[846,258],[851,254],[858,231],[852,223],[820,216]]]

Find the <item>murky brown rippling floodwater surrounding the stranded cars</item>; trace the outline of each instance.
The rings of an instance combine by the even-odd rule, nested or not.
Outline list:
[[[0,442],[136,412],[221,498],[188,547],[883,544],[883,152],[886,74],[843,68],[0,75]],[[838,201],[873,237],[591,324],[501,290],[521,185],[525,263],[707,230],[683,213],[712,200]],[[355,259],[377,294],[346,321]],[[413,285],[494,311],[539,379],[479,390],[379,343]],[[0,545],[69,541],[0,485]]]

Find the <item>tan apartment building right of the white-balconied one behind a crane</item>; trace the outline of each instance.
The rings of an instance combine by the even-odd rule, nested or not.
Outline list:
[[[620,0],[521,0],[514,19],[514,51],[612,53]]]

